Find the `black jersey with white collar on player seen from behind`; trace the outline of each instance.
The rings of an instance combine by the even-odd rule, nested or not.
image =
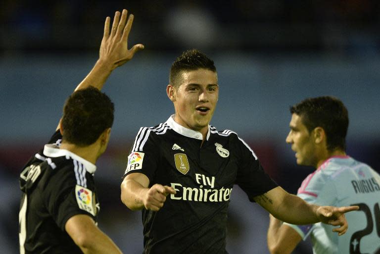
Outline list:
[[[99,204],[96,166],[67,150],[59,149],[62,136],[55,132],[20,174],[22,199],[19,212],[21,254],[82,254],[65,231],[76,214],[95,221]]]

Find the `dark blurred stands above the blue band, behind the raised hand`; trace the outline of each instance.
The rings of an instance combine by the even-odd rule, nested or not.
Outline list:
[[[96,50],[105,16],[127,8],[148,50],[378,51],[376,0],[2,0],[1,51]],[[101,31],[101,30],[100,30]]]

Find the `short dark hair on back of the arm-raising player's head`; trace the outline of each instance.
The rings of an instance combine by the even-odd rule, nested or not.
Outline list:
[[[63,140],[80,147],[93,144],[113,124],[114,105],[95,87],[74,92],[63,106]]]

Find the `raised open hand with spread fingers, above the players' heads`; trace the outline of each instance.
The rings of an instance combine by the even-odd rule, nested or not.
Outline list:
[[[104,34],[99,50],[99,60],[109,62],[112,69],[123,65],[131,60],[137,51],[143,50],[142,44],[136,44],[128,50],[128,35],[133,23],[133,14],[130,14],[127,20],[127,10],[123,9],[120,18],[120,12],[116,11],[113,18],[111,31],[109,30],[110,17],[105,19]]]

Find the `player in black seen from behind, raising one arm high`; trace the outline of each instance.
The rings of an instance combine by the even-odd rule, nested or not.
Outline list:
[[[111,100],[99,90],[113,69],[143,49],[135,45],[128,50],[132,22],[126,10],[121,18],[116,12],[110,32],[106,18],[99,59],[65,102],[48,145],[20,174],[21,254],[121,254],[96,225],[100,206],[94,173],[108,144],[114,112]]]

